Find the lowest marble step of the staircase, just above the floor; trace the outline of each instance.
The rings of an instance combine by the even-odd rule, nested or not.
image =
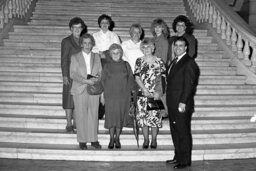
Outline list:
[[[40,160],[76,160],[76,161],[146,161],[162,162],[173,156],[173,147],[157,150],[141,150],[131,146],[130,150],[78,150],[70,145],[38,145],[1,143],[1,158],[40,159]],[[131,150],[133,149],[133,150]],[[125,155],[124,155],[125,154]],[[233,146],[195,145],[192,160],[237,159],[256,157],[255,143],[238,143]]]

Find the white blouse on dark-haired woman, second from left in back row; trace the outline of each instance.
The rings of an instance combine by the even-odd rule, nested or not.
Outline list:
[[[102,30],[93,33],[93,37],[96,44],[92,49],[92,52],[94,53],[108,50],[110,45],[112,45],[113,43],[120,44],[120,40],[117,34],[109,30],[106,33],[104,33]]]

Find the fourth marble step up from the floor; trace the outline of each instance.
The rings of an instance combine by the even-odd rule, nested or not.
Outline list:
[[[255,114],[255,105],[197,105],[195,104],[194,118],[199,117],[234,117],[250,118]],[[65,118],[61,105],[40,105],[28,103],[0,103],[0,114],[8,117],[38,117],[38,118]]]

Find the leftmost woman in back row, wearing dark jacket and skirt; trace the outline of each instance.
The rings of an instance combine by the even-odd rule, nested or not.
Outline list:
[[[71,56],[81,51],[79,37],[81,31],[83,29],[85,30],[87,27],[81,18],[74,17],[69,22],[69,28],[72,34],[64,38],[61,42],[61,71],[63,77],[62,107],[66,113],[66,131],[72,133],[75,124],[73,123],[74,125],[72,125],[74,102],[73,97],[70,94],[72,80],[70,79],[69,67],[71,63]]]

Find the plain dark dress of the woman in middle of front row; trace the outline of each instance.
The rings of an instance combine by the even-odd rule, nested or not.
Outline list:
[[[102,84],[105,98],[104,127],[127,127],[131,90],[135,85],[129,63],[123,60],[107,62],[102,71]]]

